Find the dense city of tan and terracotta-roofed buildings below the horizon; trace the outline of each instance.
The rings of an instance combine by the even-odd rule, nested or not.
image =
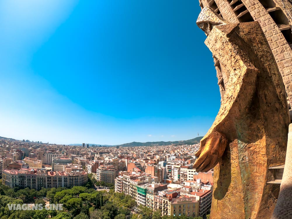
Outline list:
[[[1,137],[0,146],[2,195],[8,190],[46,190],[46,195],[32,200],[24,198],[22,203],[43,200],[47,204],[64,203],[62,198],[69,200],[72,195],[66,197],[64,193],[63,197],[57,198],[48,194],[54,190],[61,192],[86,186],[91,190],[88,195],[98,193],[102,200],[109,201],[109,194],[131,199],[128,212],[122,215],[126,218],[145,218],[147,211],[150,218],[155,215],[159,218],[206,218],[211,208],[213,172],[197,173],[192,168],[199,144],[101,147],[83,143],[82,146],[69,146]],[[82,190],[84,193],[85,189]],[[75,195],[80,199],[81,194]],[[88,201],[87,204],[96,208],[95,199],[92,201],[91,198],[92,203]],[[81,206],[85,204],[81,202]],[[85,212],[75,208],[72,213],[66,206],[62,213],[69,218],[81,213],[85,213],[86,218],[98,218],[95,208]]]

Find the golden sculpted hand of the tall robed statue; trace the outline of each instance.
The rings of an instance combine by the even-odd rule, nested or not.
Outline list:
[[[219,162],[227,147],[227,139],[217,131],[211,132],[201,140],[201,147],[195,154],[197,158],[193,168],[196,172],[208,172]]]

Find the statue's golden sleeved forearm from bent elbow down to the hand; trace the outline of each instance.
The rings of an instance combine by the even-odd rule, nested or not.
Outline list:
[[[238,58],[238,57],[233,57]],[[232,57],[231,57],[232,59]],[[236,60],[236,59],[235,59]],[[198,158],[193,168],[197,172],[207,172],[214,168],[230,142],[229,131],[234,130],[234,118],[244,114],[256,89],[258,69],[251,63],[236,60],[229,65],[229,81],[225,84],[225,94],[218,115],[208,133],[201,139],[201,147],[195,154]]]

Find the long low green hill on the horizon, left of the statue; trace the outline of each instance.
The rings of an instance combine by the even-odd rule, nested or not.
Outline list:
[[[200,142],[203,136],[183,141],[157,141],[157,142],[131,142],[122,144],[123,147],[137,147],[137,146],[163,146],[163,145],[193,145]]]

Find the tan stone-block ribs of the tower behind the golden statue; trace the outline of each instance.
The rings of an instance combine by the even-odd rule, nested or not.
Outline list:
[[[290,105],[290,102],[292,104],[292,50],[291,50],[291,47],[288,45],[286,39],[284,38],[277,24],[274,22],[274,20],[271,18],[269,13],[267,13],[266,9],[262,6],[262,4],[260,4],[258,0],[241,0],[241,1],[246,6],[251,16],[253,17],[253,19],[259,22],[261,28],[263,29],[263,32],[265,33],[267,41],[272,49],[274,58],[277,62],[281,76],[283,78],[286,93],[288,96],[288,99],[287,99],[288,105]],[[284,0],[284,1],[287,2],[286,7],[288,9],[292,8],[291,3],[289,3],[287,0]],[[213,2],[212,0],[211,1],[202,0],[204,7],[209,6],[210,3],[212,2]],[[239,22],[227,0],[215,0],[215,2],[225,20],[232,23]],[[289,16],[286,10],[284,10],[282,1],[276,0],[274,2],[276,3],[275,6],[277,8],[281,8],[283,13],[287,16],[287,18],[290,18],[291,20],[291,16]],[[291,23],[292,23],[292,20],[291,20]]]

